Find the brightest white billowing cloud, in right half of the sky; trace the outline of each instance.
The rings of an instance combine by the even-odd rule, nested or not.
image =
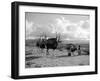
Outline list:
[[[57,31],[63,35],[66,35],[66,39],[89,39],[89,20],[79,21],[73,23],[64,17],[56,19],[56,27],[54,31]]]

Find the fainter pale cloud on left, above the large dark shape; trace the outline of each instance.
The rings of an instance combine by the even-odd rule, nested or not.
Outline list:
[[[26,39],[34,39],[36,37],[38,38],[45,34],[47,36],[54,36],[51,31],[52,28],[50,25],[36,24],[34,22],[26,20]]]

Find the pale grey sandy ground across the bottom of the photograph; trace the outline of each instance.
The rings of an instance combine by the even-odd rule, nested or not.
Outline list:
[[[89,65],[89,55],[77,55],[77,52],[73,56],[68,56],[68,51],[63,50],[49,50],[49,55],[46,55],[46,51],[40,51],[37,49],[31,50],[30,54],[26,55],[26,68],[41,68],[41,67],[58,67],[58,66],[82,66]]]

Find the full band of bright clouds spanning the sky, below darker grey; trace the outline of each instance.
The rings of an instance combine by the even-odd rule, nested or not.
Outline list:
[[[62,39],[89,39],[89,20],[80,20],[72,22],[65,17],[60,16],[54,19],[53,23],[39,24],[26,20],[27,38],[38,37],[46,34],[48,37],[55,37],[55,33],[60,33]]]

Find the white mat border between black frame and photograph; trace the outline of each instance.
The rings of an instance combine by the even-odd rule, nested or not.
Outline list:
[[[49,68],[25,68],[25,12],[84,14],[90,16],[90,65],[49,67]],[[41,6],[19,6],[19,75],[41,75],[56,73],[76,73],[95,71],[95,10],[56,8]]]

